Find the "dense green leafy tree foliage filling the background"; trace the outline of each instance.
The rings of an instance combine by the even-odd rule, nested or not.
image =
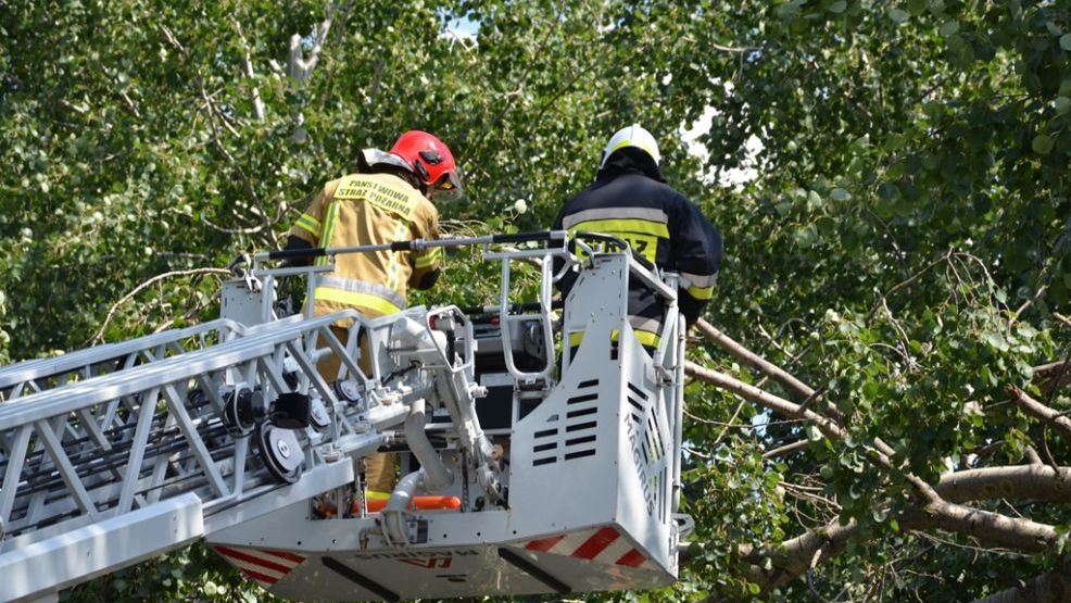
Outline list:
[[[724,234],[707,319],[807,384],[696,331],[697,530],[642,596],[972,599],[1067,566],[1071,436],[1024,402],[1071,410],[1067,0],[42,0],[0,3],[0,361],[212,316],[201,268],[402,130],[455,151],[445,225],[482,233],[550,224],[638,121]],[[483,301],[465,260],[415,301]],[[214,563],[72,596],[253,596]]]

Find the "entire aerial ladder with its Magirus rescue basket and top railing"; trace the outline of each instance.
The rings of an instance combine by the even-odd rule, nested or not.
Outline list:
[[[671,585],[691,529],[679,276],[584,233],[300,253],[462,246],[501,264],[496,305],[285,315],[280,279],[311,299],[332,264],[264,252],[231,265],[218,319],[0,368],[0,601],[197,540],[301,601]],[[533,300],[520,263],[539,266]],[[665,302],[650,351],[627,319],[638,281]],[[383,451],[402,453],[386,502],[364,476]]]

